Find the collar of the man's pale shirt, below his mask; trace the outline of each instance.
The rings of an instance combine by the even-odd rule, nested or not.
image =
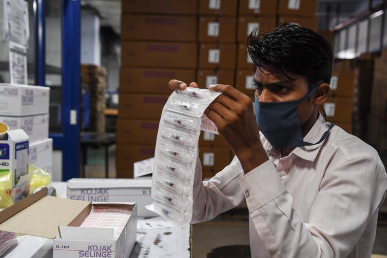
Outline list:
[[[323,133],[328,130],[329,125],[330,124],[326,123],[322,115],[319,113],[315,124],[312,126],[311,130],[309,130],[309,132],[305,135],[304,142],[317,143]],[[263,148],[266,150],[266,154],[269,159],[272,161],[279,160],[281,158],[281,152],[274,149],[272,145],[270,145],[270,143],[266,140],[265,136],[261,132],[259,133]],[[325,142],[325,140],[316,145],[297,147],[289,154],[289,156],[294,154],[302,158],[303,160],[314,161],[320,150],[320,146]]]

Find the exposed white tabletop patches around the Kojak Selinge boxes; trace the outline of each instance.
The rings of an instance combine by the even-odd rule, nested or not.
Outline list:
[[[67,182],[52,182],[51,186],[55,187],[58,197],[66,198]],[[189,258],[190,239],[190,227],[181,229],[172,226],[162,217],[151,219],[138,217],[137,242],[130,258]],[[17,241],[17,245],[8,250],[4,258],[52,257],[52,239],[22,235]]]

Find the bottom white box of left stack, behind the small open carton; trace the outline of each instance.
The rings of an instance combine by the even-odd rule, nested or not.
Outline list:
[[[30,143],[29,145],[29,164],[51,174],[52,177],[52,139]]]

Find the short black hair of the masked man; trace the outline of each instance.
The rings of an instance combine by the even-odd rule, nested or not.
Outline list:
[[[262,72],[295,80],[288,72],[303,75],[309,88],[330,84],[333,53],[318,33],[298,25],[282,24],[273,31],[254,30],[247,38],[248,54]]]

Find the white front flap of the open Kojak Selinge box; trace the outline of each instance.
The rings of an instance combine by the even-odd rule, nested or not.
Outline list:
[[[62,240],[114,241],[113,228],[59,227]]]

